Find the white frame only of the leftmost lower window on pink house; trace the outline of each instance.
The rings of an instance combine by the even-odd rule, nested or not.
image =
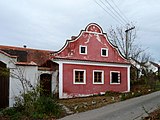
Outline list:
[[[83,71],[83,82],[76,82],[75,81],[75,71]],[[86,84],[86,70],[84,69],[73,69],[73,84]]]

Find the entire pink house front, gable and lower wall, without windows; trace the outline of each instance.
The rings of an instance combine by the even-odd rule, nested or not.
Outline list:
[[[79,47],[87,46],[87,54],[80,54]],[[108,49],[108,56],[101,56],[101,48]],[[118,49],[112,45],[107,35],[103,33],[101,27],[95,23],[89,24],[77,37],[67,40],[62,49],[54,53],[53,59],[94,61],[97,63],[118,63],[129,64],[129,62],[119,53]],[[61,60],[60,60],[61,61]],[[116,64],[114,64],[116,65]],[[129,66],[129,65],[128,65]],[[86,84],[73,84],[73,69],[86,70]],[[93,70],[104,70],[104,84],[93,84]],[[121,72],[121,83],[110,84],[110,71]],[[76,96],[79,94],[89,95],[105,91],[128,91],[128,72],[126,67],[101,67],[90,65],[63,64],[63,95]],[[61,81],[60,81],[61,82]]]

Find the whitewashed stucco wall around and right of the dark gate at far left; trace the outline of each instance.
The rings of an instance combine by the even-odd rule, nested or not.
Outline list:
[[[16,58],[11,58],[3,53],[0,53],[0,61],[7,65],[10,71],[9,77],[9,107],[13,106],[15,96],[22,93],[22,84],[19,78],[25,78],[35,85],[38,80],[38,67],[37,66],[17,66]],[[23,76],[23,77],[22,77]]]

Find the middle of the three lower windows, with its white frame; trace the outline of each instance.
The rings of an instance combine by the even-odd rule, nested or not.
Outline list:
[[[104,71],[93,70],[93,84],[104,84]]]

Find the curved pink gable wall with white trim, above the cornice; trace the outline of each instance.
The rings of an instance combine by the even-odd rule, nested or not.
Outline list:
[[[87,46],[87,55],[79,54],[79,46]],[[101,48],[108,48],[108,57],[101,56]],[[55,58],[78,59],[90,61],[103,61],[113,63],[128,63],[110,44],[106,34],[102,33],[101,27],[96,24],[89,24],[80,35],[73,40],[67,41],[65,46],[55,53]]]

